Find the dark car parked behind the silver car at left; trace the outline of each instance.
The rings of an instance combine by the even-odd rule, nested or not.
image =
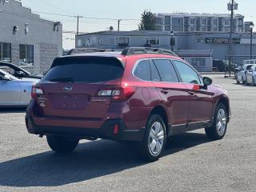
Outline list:
[[[0,69],[8,71],[16,78],[42,78],[42,75],[31,74],[29,71],[24,70],[10,62],[0,62]]]

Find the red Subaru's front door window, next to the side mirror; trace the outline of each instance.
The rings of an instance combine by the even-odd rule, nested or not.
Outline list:
[[[182,78],[182,82],[201,84],[201,80],[198,73],[195,72],[190,66],[186,65],[184,62],[179,62],[174,60],[174,66],[178,70],[178,74]]]

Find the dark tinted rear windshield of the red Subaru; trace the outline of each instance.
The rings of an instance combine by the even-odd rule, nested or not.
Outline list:
[[[121,78],[123,70],[117,58],[56,58],[44,79],[51,82],[106,82]]]

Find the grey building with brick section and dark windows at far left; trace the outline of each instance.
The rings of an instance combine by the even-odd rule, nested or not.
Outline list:
[[[40,73],[62,55],[60,22],[42,19],[14,0],[0,3],[0,18],[0,61]]]

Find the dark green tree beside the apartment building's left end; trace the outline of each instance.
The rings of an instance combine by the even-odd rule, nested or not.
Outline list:
[[[138,30],[155,30],[155,16],[150,10],[144,10]]]

